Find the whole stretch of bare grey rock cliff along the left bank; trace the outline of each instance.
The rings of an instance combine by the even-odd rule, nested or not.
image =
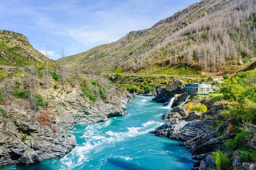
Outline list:
[[[123,116],[126,113],[124,103],[132,102],[128,98],[133,95],[115,87],[110,91],[107,99],[92,102],[76,86],[37,89],[37,93],[49,101],[47,111],[52,113],[52,122],[47,124],[39,121],[42,110],[34,112],[13,102],[0,105],[5,111],[0,114],[0,167],[63,157],[76,146],[75,136],[67,132],[74,125]]]

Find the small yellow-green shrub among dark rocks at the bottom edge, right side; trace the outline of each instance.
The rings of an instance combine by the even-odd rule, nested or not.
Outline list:
[[[220,150],[212,152],[212,159],[215,160],[217,170],[227,170],[232,166],[230,159]]]

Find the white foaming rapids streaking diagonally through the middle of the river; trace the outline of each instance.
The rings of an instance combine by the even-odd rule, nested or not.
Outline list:
[[[97,123],[88,125],[85,128],[84,138],[86,142],[82,146],[75,147],[70,154],[61,158],[61,163],[64,165],[63,169],[73,169],[79,165],[90,161],[90,152],[99,152],[102,148],[113,145],[115,142],[126,140],[127,138],[135,137],[141,134],[145,134],[153,131],[156,127],[163,125],[161,122],[155,122],[153,120],[143,123],[140,127],[126,127],[126,132],[113,132],[107,131],[102,133],[102,128],[111,124],[111,119],[104,123]],[[121,157],[120,157],[121,158]],[[125,160],[131,160],[127,156],[123,156]]]

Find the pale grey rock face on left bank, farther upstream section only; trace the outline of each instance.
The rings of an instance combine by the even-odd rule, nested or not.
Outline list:
[[[123,116],[127,113],[124,103],[131,103],[132,100],[127,99],[126,94],[121,94],[117,89],[114,93],[119,95],[92,102],[79,88],[55,86],[52,89],[41,89],[44,98],[51,101],[49,107],[55,113],[56,123],[67,130],[72,129],[76,124],[104,122],[108,120],[108,117]],[[133,96],[131,94],[131,97]]]

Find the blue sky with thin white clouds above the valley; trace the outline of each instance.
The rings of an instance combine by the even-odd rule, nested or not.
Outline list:
[[[109,42],[200,0],[0,0],[0,29],[28,37],[35,49],[58,59]]]

